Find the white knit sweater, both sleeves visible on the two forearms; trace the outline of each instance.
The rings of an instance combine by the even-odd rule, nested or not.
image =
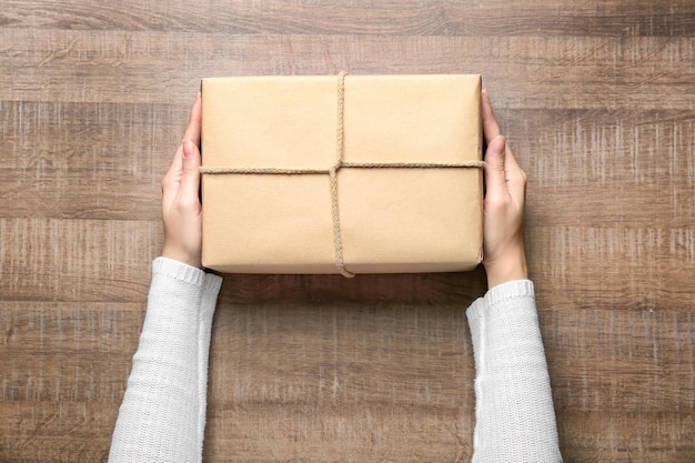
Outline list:
[[[222,279],[158,258],[109,462],[200,462],[208,352]],[[466,312],[475,353],[473,462],[560,462],[531,281],[493,288]]]

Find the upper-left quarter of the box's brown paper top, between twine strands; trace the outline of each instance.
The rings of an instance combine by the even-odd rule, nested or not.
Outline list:
[[[333,164],[334,77],[214,78],[203,79],[202,88],[205,165],[328,169]]]

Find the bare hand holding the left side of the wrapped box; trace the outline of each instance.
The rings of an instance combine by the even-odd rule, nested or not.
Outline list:
[[[189,127],[162,179],[164,258],[202,268],[202,204],[200,203],[200,93],[191,109]]]

